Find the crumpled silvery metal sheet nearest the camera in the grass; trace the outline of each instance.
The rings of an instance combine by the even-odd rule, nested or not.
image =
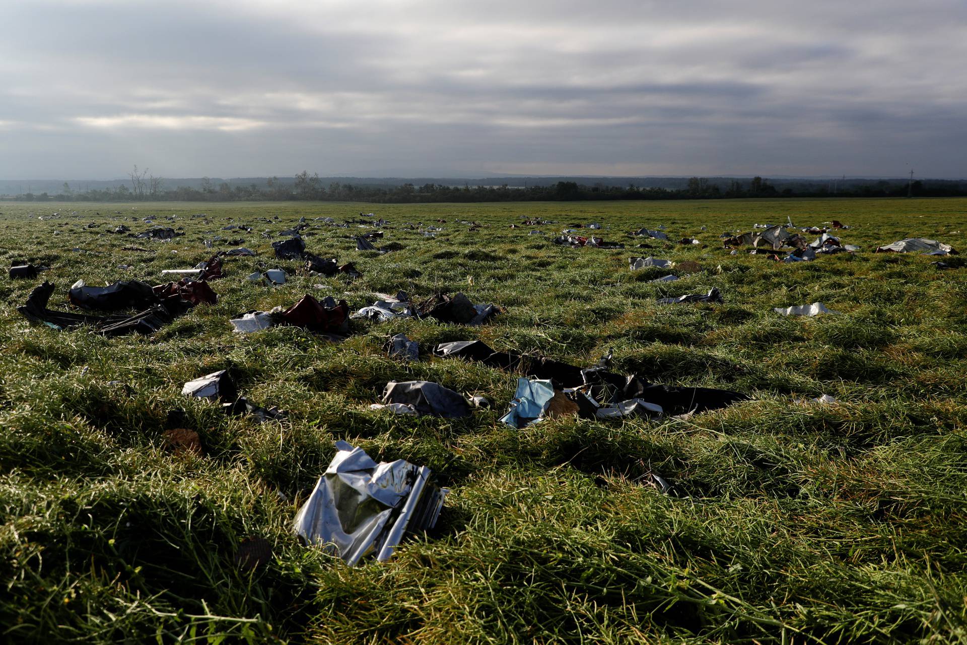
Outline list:
[[[325,545],[347,565],[367,555],[385,562],[409,532],[436,525],[449,490],[427,483],[430,469],[404,459],[376,463],[361,448],[337,441],[337,454],[296,513],[294,529]]]

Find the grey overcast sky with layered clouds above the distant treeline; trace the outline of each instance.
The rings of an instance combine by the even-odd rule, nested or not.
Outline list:
[[[967,176],[964,0],[0,0],[0,178]]]

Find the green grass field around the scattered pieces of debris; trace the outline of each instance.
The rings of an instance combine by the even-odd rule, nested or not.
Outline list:
[[[967,269],[872,252],[904,237],[967,250],[967,199],[134,206],[0,204],[0,261],[51,267],[0,282],[6,642],[967,640]],[[378,245],[403,249],[357,251],[352,236],[364,229],[313,220],[361,211],[390,220]],[[186,235],[107,233],[145,230],[149,215]],[[296,268],[270,245],[301,217],[313,225],[308,250],[354,262],[362,278],[246,280],[260,266]],[[524,217],[556,223],[510,228]],[[862,250],[783,264],[722,249],[724,231],[787,217],[841,220],[852,226],[843,242]],[[444,230],[431,239],[402,228],[418,221]],[[593,221],[628,248],[551,244]],[[253,232],[221,230],[229,223]],[[659,224],[703,247],[634,248],[643,240],[630,230]],[[76,279],[159,283],[162,269],[207,259],[203,240],[216,235],[260,255],[227,258],[212,282],[219,304],[151,337],[56,332],[15,310],[44,279],[61,309]],[[122,249],[132,244],[149,251]],[[669,272],[630,272],[631,255],[702,270],[649,283]],[[713,286],[725,304],[655,302]],[[397,289],[463,291],[505,311],[478,328],[353,321],[340,344],[292,327],[240,337],[228,323],[306,293],[356,309]],[[815,301],[842,315],[772,310]],[[391,360],[382,344],[399,332],[423,355],[480,338],[586,366],[611,349],[615,371],[753,400],[685,422],[569,418],[515,430],[497,421],[515,374]],[[181,396],[183,383],[220,368],[288,420],[258,425]],[[487,396],[494,409],[454,421],[368,409],[387,381],[413,379]],[[822,394],[840,403],[798,402]],[[178,410],[204,455],[165,446]],[[408,538],[388,563],[350,569],[291,531],[337,439],[427,465],[453,489],[432,533]],[[643,484],[649,472],[679,496]],[[246,572],[235,554],[251,537],[271,542],[274,559]]]

